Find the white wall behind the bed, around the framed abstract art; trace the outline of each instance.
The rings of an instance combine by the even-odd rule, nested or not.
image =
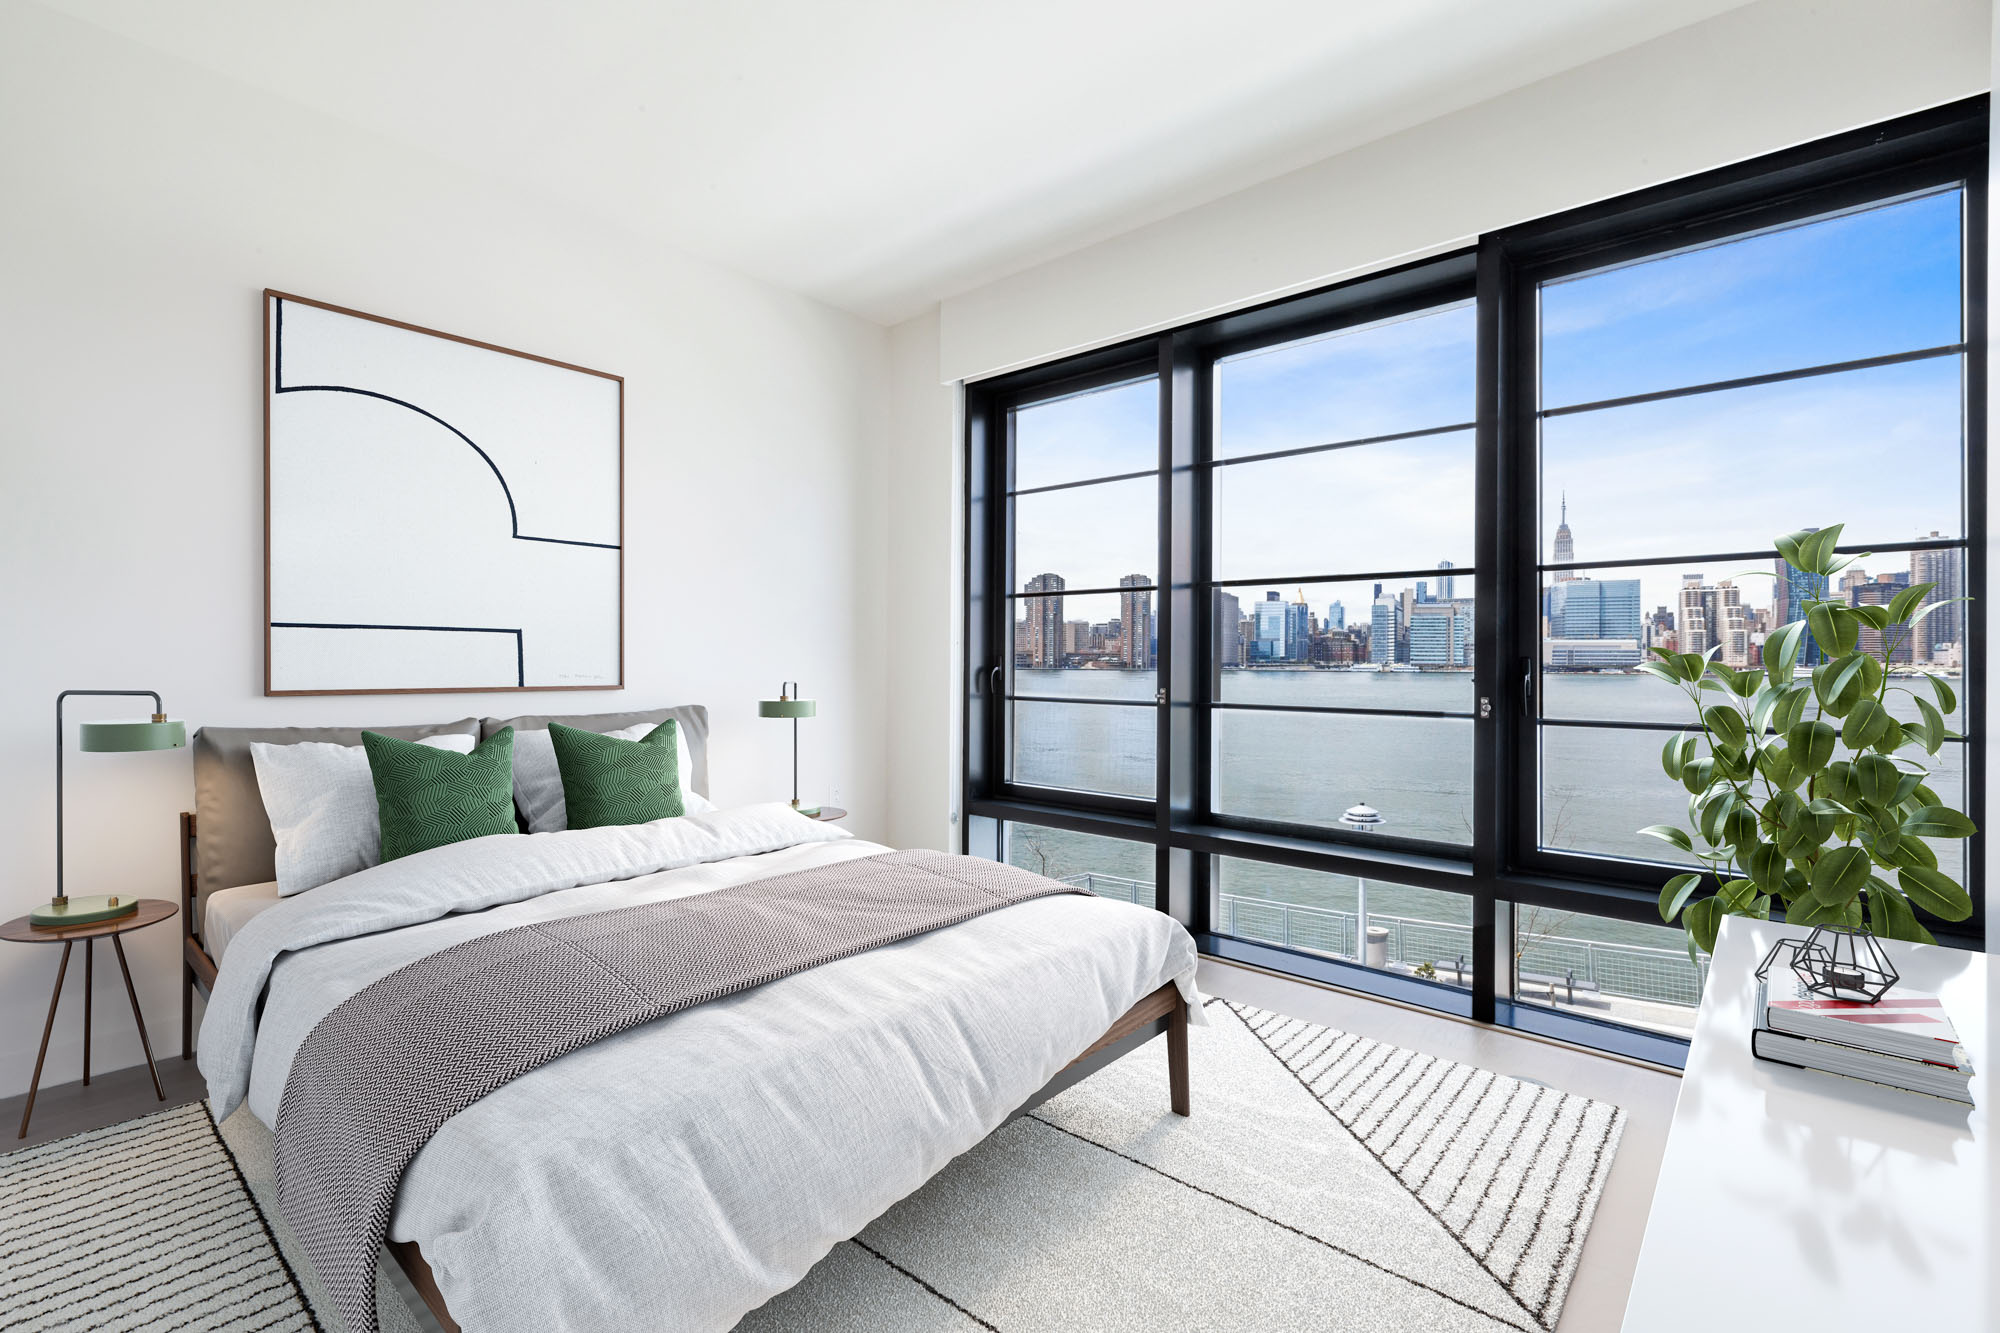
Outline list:
[[[160,689],[216,725],[706,703],[738,803],[786,795],[790,731],[754,701],[796,677],[820,699],[808,795],[888,831],[880,328],[20,4],[0,180],[0,917],[50,893],[66,687]],[[626,691],[260,695],[264,286],[626,376]],[[68,793],[72,893],[178,897],[186,753],[72,753]],[[56,953],[0,945],[0,1097],[26,1089]],[[178,1055],[178,925],[128,953]],[[100,1071],[140,1057],[108,963]],[[50,1083],[76,1079],[78,985]]]

